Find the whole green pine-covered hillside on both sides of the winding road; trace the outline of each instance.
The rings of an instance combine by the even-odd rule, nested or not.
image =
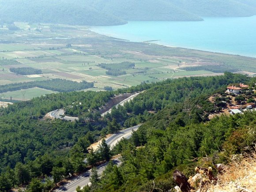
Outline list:
[[[254,81],[255,78],[232,73],[169,79],[115,92],[49,94],[0,109],[0,191],[29,184],[31,179],[32,184],[36,179],[40,185],[40,176],[45,174],[53,174],[54,181],[58,182],[69,177],[70,173],[81,173],[86,170],[85,157],[89,165],[107,160],[99,152],[88,154],[90,143],[121,127],[141,123],[143,125],[131,139],[122,140],[108,154],[121,153],[123,165],[106,169],[109,174],[93,184],[92,187],[98,187],[92,191],[149,191],[152,179],[159,188],[170,188],[173,181],[168,180],[164,184],[164,180],[175,167],[188,167],[189,159],[218,152],[225,140],[230,139],[231,143],[226,144],[227,151],[236,149],[232,153],[239,153],[245,144],[254,141],[245,133],[253,131],[255,112],[209,121],[208,115],[221,108],[207,99],[216,92],[224,92],[229,83],[245,82],[253,89]],[[100,116],[98,110],[114,94],[142,90],[145,91],[131,102],[112,109],[104,117]],[[43,118],[49,111],[60,108],[78,115],[79,121]],[[243,131],[242,142],[233,148],[236,143],[232,143],[232,134],[240,129]]]

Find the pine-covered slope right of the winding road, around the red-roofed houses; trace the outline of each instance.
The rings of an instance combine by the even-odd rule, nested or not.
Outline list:
[[[205,97],[225,90],[226,86],[219,86],[222,78],[239,81],[243,77],[226,73],[216,79],[184,78],[156,83],[124,108],[119,106],[112,116],[127,110],[132,117],[125,124],[142,121],[143,125],[131,139],[123,139],[114,148],[116,154],[122,155],[122,165],[106,167],[90,190],[169,191],[177,185],[172,178],[176,169],[189,178],[195,175],[196,166],[229,163],[235,154],[248,152],[250,147],[253,150],[255,112],[207,120],[207,114],[218,109]],[[218,174],[216,169],[214,174]]]

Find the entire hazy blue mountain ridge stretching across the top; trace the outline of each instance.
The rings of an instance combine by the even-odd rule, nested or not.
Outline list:
[[[128,20],[201,21],[256,15],[254,0],[0,0],[0,23],[121,25]]]

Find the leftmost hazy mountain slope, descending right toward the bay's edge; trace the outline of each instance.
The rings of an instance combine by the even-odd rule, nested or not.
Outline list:
[[[126,23],[89,5],[87,0],[0,0],[0,19],[96,26]]]

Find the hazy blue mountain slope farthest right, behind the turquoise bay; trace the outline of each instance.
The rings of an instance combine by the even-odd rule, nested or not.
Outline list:
[[[252,0],[166,0],[186,11],[200,16],[241,17],[255,14]],[[243,2],[243,3],[242,3]],[[247,4],[248,3],[248,4]],[[254,7],[253,7],[254,6]]]

